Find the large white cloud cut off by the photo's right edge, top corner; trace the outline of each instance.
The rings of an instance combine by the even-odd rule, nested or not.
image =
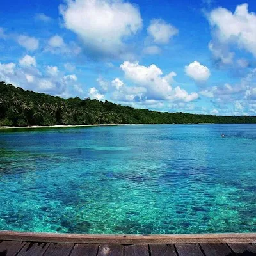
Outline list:
[[[237,5],[234,13],[216,8],[208,19],[221,44],[236,44],[256,57],[256,14],[248,12],[248,4]]]

